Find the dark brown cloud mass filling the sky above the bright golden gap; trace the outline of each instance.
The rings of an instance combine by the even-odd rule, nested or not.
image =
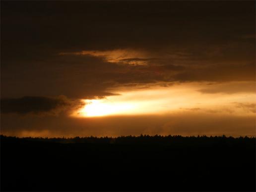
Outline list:
[[[1,96],[95,98],[131,83],[251,81],[254,34],[255,1],[1,1]],[[59,55],[116,49],[147,57]]]

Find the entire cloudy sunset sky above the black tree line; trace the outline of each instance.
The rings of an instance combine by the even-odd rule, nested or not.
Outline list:
[[[0,3],[1,134],[256,136],[254,0]]]

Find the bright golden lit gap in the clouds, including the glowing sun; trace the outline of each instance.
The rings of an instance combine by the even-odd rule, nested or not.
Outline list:
[[[117,96],[82,100],[85,106],[72,116],[91,118],[120,115],[166,115],[182,111],[239,116],[255,115],[255,93],[207,94],[198,91],[204,86],[206,85],[199,83],[183,83],[171,87],[153,86],[126,91],[119,88],[119,92],[116,93],[120,95]]]

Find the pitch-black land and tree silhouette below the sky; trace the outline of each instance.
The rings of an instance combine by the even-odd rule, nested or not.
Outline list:
[[[255,191],[255,138],[0,137],[1,191]]]

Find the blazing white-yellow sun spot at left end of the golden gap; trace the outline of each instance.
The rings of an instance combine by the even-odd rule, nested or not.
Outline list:
[[[133,108],[128,103],[114,103],[105,99],[84,100],[85,106],[78,112],[82,117],[117,115]]]

